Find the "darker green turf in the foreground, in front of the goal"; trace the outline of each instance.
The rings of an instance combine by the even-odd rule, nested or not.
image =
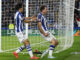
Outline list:
[[[48,59],[46,55],[43,59],[39,60],[80,60],[80,54],[71,54],[72,52],[80,52],[80,37],[74,37],[74,44],[71,48],[60,53],[54,53],[53,55],[56,57],[55,59]],[[0,53],[0,60],[30,60],[30,59],[28,54],[20,53],[19,59],[16,59],[14,55],[11,53]]]

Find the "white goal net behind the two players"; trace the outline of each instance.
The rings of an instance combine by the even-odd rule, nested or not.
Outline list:
[[[1,1],[1,0],[0,0]],[[73,44],[73,20],[74,20],[74,0],[2,0],[0,12],[0,50],[1,52],[12,52],[21,46],[14,29],[15,4],[23,2],[24,16],[37,15],[41,5],[47,5],[48,30],[57,38],[59,45],[55,52],[68,49]],[[50,43],[45,41],[39,33],[37,22],[28,24],[26,28],[28,39],[32,50],[46,50]],[[26,51],[24,51],[26,52]]]

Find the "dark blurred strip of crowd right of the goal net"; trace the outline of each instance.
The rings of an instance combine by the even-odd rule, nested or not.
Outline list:
[[[80,27],[80,0],[75,0],[74,27]]]

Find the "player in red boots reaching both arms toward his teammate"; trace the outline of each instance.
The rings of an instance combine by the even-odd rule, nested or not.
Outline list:
[[[33,52],[32,52],[29,40],[27,39],[26,35],[23,32],[24,31],[23,24],[35,21],[36,17],[24,18],[23,14],[22,14],[23,13],[23,4],[22,3],[18,3],[16,5],[16,9],[17,9],[17,12],[14,16],[14,19],[16,21],[15,32],[16,32],[16,36],[17,36],[19,42],[23,43],[24,45],[21,46],[15,52],[13,52],[13,54],[16,56],[16,58],[18,58],[18,53],[26,48],[28,50],[28,53],[29,53],[31,59],[39,59],[39,57],[33,56]]]

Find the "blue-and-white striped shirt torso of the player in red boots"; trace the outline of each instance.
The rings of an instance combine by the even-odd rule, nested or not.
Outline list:
[[[15,31],[16,32],[23,32],[23,15],[19,11],[15,13]]]

